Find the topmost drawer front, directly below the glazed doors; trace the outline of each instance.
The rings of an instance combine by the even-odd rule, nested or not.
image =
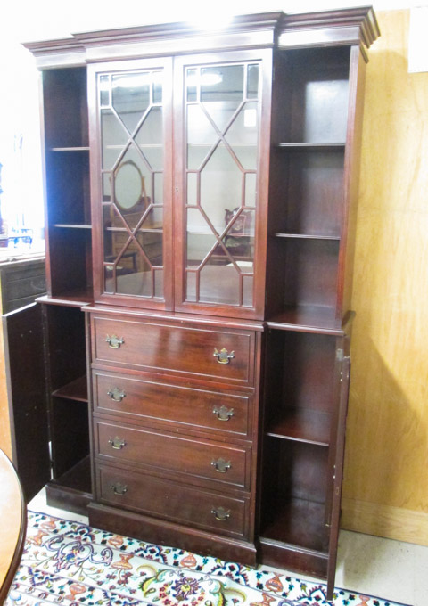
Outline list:
[[[95,317],[94,362],[252,384],[255,333]],[[217,356],[217,357],[216,357]],[[227,357],[229,356],[229,357]]]

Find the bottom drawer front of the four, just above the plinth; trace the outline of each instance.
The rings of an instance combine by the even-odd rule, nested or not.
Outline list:
[[[245,537],[248,499],[98,465],[98,501],[226,536]]]

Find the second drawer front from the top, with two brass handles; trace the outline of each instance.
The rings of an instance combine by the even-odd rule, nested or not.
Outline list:
[[[95,371],[94,410],[120,414],[123,420],[175,423],[215,431],[221,436],[251,438],[252,397],[214,392]]]

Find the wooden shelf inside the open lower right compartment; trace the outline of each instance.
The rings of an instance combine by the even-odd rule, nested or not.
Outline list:
[[[308,408],[285,408],[281,418],[270,423],[266,431],[272,438],[291,439],[318,446],[329,446],[330,414]]]

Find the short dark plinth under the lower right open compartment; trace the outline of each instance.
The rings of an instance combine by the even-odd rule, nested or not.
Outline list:
[[[260,537],[259,563],[311,577],[326,578],[328,554]]]

